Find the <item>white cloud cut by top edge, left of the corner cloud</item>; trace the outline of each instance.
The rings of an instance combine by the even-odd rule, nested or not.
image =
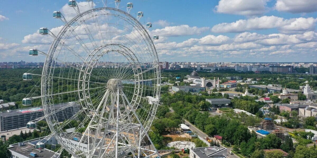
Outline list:
[[[237,15],[262,15],[267,0],[220,0],[215,7],[217,13]]]

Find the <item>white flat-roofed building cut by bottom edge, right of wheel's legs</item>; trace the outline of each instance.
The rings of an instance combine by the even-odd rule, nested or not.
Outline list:
[[[227,148],[201,147],[189,149],[190,158],[226,158]]]

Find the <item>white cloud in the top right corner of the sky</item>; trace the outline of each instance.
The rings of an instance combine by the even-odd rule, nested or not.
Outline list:
[[[277,0],[275,8],[278,11],[290,13],[310,13],[317,11],[316,0]]]

